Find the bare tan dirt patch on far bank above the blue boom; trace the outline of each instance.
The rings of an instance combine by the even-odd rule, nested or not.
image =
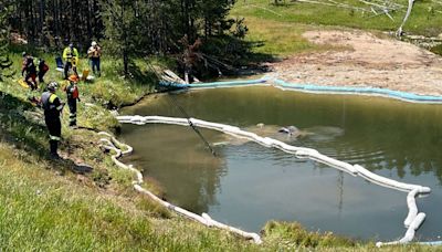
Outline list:
[[[362,31],[308,31],[303,35],[313,43],[345,50],[294,55],[272,63],[278,78],[442,95],[442,57],[429,51]]]

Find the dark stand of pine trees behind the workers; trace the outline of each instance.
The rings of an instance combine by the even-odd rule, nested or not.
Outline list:
[[[235,0],[0,2],[3,6],[4,2],[10,3],[8,20],[11,29],[25,36],[31,45],[60,52],[63,46],[61,42],[71,41],[85,52],[93,40],[101,40],[106,54],[122,59],[122,70],[126,76],[130,72],[130,59],[182,53],[186,46],[179,41],[185,36],[189,44],[201,40],[201,53],[217,61],[211,65],[220,65],[220,61],[235,64],[239,62],[236,59],[249,50],[242,50],[243,43],[239,42],[246,32],[241,30],[244,25],[235,25],[236,31],[229,32],[235,23],[228,18]]]

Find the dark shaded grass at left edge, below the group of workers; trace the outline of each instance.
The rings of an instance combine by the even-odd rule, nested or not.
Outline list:
[[[49,137],[46,127],[33,119],[27,118],[24,112],[34,112],[33,105],[10,94],[0,92],[1,141],[48,160],[51,167],[61,174],[66,171],[65,168],[75,174],[86,174],[93,170],[92,167],[84,164],[77,165],[71,159],[51,159],[48,148]],[[41,119],[43,120],[43,118]]]

